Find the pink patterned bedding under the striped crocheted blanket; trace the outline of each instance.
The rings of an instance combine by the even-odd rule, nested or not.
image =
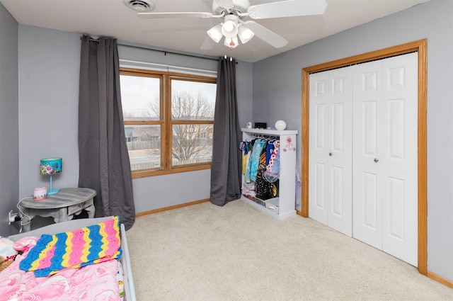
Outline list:
[[[121,300],[118,285],[120,263],[115,259],[82,268],[64,269],[40,278],[31,271],[19,269],[19,263],[37,241],[38,237],[26,237],[16,242],[18,249],[24,253],[0,273],[0,301]]]

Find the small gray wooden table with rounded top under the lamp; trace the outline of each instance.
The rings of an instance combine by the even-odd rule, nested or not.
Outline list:
[[[53,217],[55,222],[66,222],[72,220],[74,215],[79,215],[82,210],[88,212],[88,217],[94,217],[93,198],[96,191],[90,188],[62,188],[59,193],[47,195],[44,200],[33,200],[33,196],[23,198],[19,206],[30,221],[23,225],[25,232],[30,231],[30,224],[33,217]]]

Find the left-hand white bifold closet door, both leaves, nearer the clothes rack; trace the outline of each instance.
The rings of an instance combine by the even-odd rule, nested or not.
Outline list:
[[[310,75],[309,215],[352,236],[352,67]]]

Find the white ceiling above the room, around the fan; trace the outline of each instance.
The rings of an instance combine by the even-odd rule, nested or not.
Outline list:
[[[152,12],[212,12],[212,0],[152,0]],[[278,0],[250,0],[251,5]],[[244,62],[258,62],[314,40],[402,11],[428,0],[326,0],[326,12],[319,16],[256,20],[289,40],[274,48],[259,38],[235,49],[216,44],[206,30],[219,23],[216,18],[145,19],[127,7],[123,0],[0,0],[16,21],[25,25],[51,28],[93,37],[109,36],[123,42],[136,42],[154,48],[219,57],[227,55]],[[205,42],[212,49],[202,50]]]

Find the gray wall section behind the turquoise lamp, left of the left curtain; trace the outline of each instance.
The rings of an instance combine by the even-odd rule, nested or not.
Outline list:
[[[40,159],[62,157],[55,188],[77,187],[80,35],[19,25],[19,198],[49,187]]]

